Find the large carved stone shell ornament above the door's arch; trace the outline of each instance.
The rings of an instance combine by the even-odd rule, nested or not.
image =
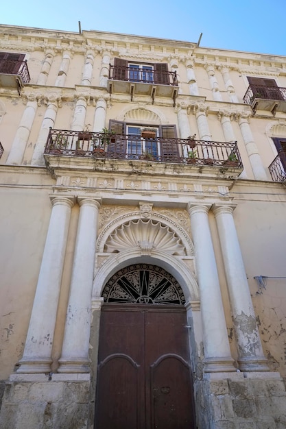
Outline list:
[[[117,253],[134,247],[148,247],[176,256],[187,254],[176,232],[152,219],[135,219],[123,223],[106,240],[104,252]]]

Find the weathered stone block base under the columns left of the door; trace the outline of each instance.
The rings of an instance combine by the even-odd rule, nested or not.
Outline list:
[[[36,381],[32,381],[33,376]],[[56,374],[56,380],[49,380],[49,376],[43,374],[33,376],[29,376],[30,381],[12,381],[11,376],[12,380],[10,378],[6,383],[0,414],[1,429],[90,427],[89,380],[64,381],[61,378],[67,377],[62,374]]]

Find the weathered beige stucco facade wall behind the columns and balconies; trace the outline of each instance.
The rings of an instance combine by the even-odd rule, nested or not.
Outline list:
[[[17,33],[23,32],[23,38],[17,38]],[[4,33],[8,33],[8,40]],[[85,47],[94,53],[93,75],[91,86],[82,86],[82,69],[84,67]],[[47,76],[46,86],[36,84],[40,75],[41,66],[45,59],[45,52],[50,49],[53,52],[51,69]],[[195,118],[194,107],[200,103],[206,107],[206,120],[212,140],[224,141],[224,132],[218,119],[219,111],[231,113],[231,124],[238,143],[245,172],[243,180],[233,181],[229,197],[237,204],[234,213],[235,225],[239,236],[239,242],[243,254],[243,260],[250,284],[252,302],[257,315],[263,349],[270,360],[270,367],[281,371],[286,376],[285,363],[285,312],[286,312],[286,288],[285,279],[267,280],[266,289],[257,293],[257,281],[254,276],[266,275],[273,277],[286,277],[285,264],[283,262],[283,248],[285,246],[285,215],[286,193],[281,184],[274,184],[268,172],[270,162],[276,156],[276,149],[272,143],[270,127],[273,123],[280,124],[280,131],[275,136],[286,137],[286,114],[276,112],[273,117],[270,112],[257,112],[252,114],[250,106],[243,104],[243,96],[248,88],[246,76],[257,75],[267,78],[275,78],[279,86],[286,86],[286,58],[269,57],[254,53],[241,53],[223,50],[212,50],[195,47],[193,43],[174,42],[171,40],[157,40],[122,36],[118,34],[104,34],[102,32],[84,32],[83,34],[53,32],[35,29],[16,29],[14,27],[0,26],[0,51],[16,51],[27,53],[27,64],[31,75],[31,82],[27,84],[19,95],[16,89],[4,88],[1,90],[0,99],[5,106],[5,114],[0,121],[0,141],[4,147],[3,156],[0,159],[0,285],[1,285],[1,340],[0,340],[0,379],[8,378],[23,353],[23,345],[29,324],[40,262],[43,256],[45,236],[49,225],[51,203],[49,193],[53,192],[56,180],[49,175],[45,167],[29,167],[34,147],[36,145],[40,127],[45,117],[47,99],[51,96],[60,99],[58,101],[58,114],[55,128],[60,130],[71,129],[75,103],[78,95],[84,95],[88,106],[86,108],[85,123],[93,125],[95,115],[95,103],[104,96],[107,102],[106,127],[110,119],[124,120],[124,115],[131,109],[145,109],[158,113],[160,123],[176,124],[178,127],[178,109],[187,106],[187,121],[191,134],[199,136],[198,123]],[[63,87],[56,87],[55,82],[62,62],[62,54],[68,51],[71,54],[69,71]],[[154,105],[150,97],[135,97],[130,101],[130,95],[108,94],[107,88],[99,87],[99,74],[102,68],[102,54],[108,52],[110,61],[121,56],[137,60],[140,55],[145,62],[170,62],[176,59],[178,63],[178,75],[180,77],[180,93],[176,99],[174,108],[171,99],[160,97],[155,99]],[[192,55],[193,54],[193,55]],[[198,97],[189,93],[187,82],[186,60],[193,58],[196,82],[198,84]],[[222,95],[222,101],[214,101],[211,84],[206,72],[208,64],[215,64],[215,77],[218,90]],[[228,97],[220,67],[227,65],[230,70],[230,79],[235,88],[235,94],[239,103],[231,103]],[[25,103],[29,97],[34,97],[37,102],[36,114],[29,133],[27,145],[23,154],[22,166],[8,166],[6,164],[8,154],[12,147],[16,130],[19,127],[21,117],[25,111]],[[257,145],[263,167],[269,182],[256,182],[252,171],[250,159],[243,142],[243,136],[238,123],[241,112],[249,115],[250,130]],[[156,124],[156,125],[159,125]],[[69,167],[64,167],[58,175],[71,176],[76,182],[77,177],[93,175],[102,180],[104,172],[88,173],[73,172],[76,167],[76,159]],[[76,170],[76,168],[75,168]],[[150,180],[155,186],[156,177],[151,171],[139,175],[130,172],[112,172],[107,174],[110,180],[120,178],[125,183],[134,180],[140,184],[141,180]],[[107,177],[106,176],[106,177]],[[163,186],[167,186],[174,177],[179,177],[183,182],[192,186],[193,181],[200,180],[204,187],[204,193],[200,201],[208,199],[213,201],[217,194],[212,194],[212,188],[216,189],[216,177],[206,177],[197,174],[195,177],[182,177],[174,174],[172,177],[161,175]],[[247,179],[247,180],[246,180]],[[137,181],[137,182],[136,182]],[[73,194],[79,192],[80,185],[70,181],[69,191]],[[99,182],[99,181],[98,181]],[[158,180],[157,180],[158,182]],[[156,182],[156,184],[157,184]],[[139,186],[139,185],[138,185]],[[141,185],[140,185],[141,186]],[[210,189],[210,191],[206,191]],[[103,204],[138,204],[143,199],[169,210],[187,208],[190,198],[188,193],[180,193],[177,199],[170,199],[164,193],[152,191],[150,196],[141,192],[128,193],[122,197],[104,188],[96,190],[103,197]],[[195,196],[192,194],[192,198]],[[130,202],[131,201],[131,202]],[[72,210],[69,228],[67,254],[62,277],[62,289],[58,306],[58,320],[53,344],[53,368],[56,369],[57,360],[60,357],[62,337],[64,332],[64,319],[69,296],[69,284],[71,280],[71,266],[75,246],[75,234],[78,224],[78,206]],[[217,228],[213,215],[209,216],[215,256],[219,269],[219,280],[222,288],[226,323],[230,337],[233,357],[237,357],[235,339],[229,308],[228,291],[222,262],[222,254],[219,247]]]

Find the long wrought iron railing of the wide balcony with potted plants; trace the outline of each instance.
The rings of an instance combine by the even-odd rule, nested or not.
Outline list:
[[[233,167],[243,164],[237,142],[50,130],[46,155]]]

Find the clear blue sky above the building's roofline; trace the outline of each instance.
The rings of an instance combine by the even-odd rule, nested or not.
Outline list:
[[[3,1],[1,23],[82,29],[198,42],[286,56],[286,0]]]

